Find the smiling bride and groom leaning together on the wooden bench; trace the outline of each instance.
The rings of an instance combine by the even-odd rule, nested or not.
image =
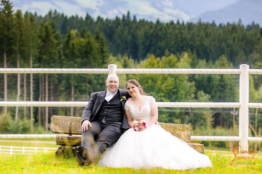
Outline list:
[[[82,115],[82,141],[76,152],[80,166],[94,163],[99,157],[100,166],[115,168],[186,170],[212,166],[207,155],[157,124],[155,99],[144,93],[138,81],[129,80],[127,90],[118,88],[116,75],[109,75],[105,83],[107,89],[91,94]],[[134,131],[135,119],[146,120],[148,128]]]

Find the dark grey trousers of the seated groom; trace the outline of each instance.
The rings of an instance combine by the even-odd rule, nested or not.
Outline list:
[[[107,149],[113,145],[123,134],[121,124],[91,122],[92,128],[82,132],[81,146],[88,150],[88,155],[83,157],[95,162]]]

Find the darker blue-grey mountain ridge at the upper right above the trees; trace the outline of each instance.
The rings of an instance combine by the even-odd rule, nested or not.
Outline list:
[[[204,12],[201,15],[190,19],[192,22],[197,22],[199,18],[203,22],[216,23],[235,22],[241,19],[244,25],[251,24],[252,21],[262,25],[262,1],[261,0],[241,0],[236,1],[219,10]]]

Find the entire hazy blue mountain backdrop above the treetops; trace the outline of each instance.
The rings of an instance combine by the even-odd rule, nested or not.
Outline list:
[[[155,22],[202,21],[216,23],[237,22],[239,18],[244,24],[262,24],[261,0],[13,0],[14,9],[22,9],[45,16],[48,11],[55,10],[67,16],[85,17],[86,13],[94,19],[122,17],[130,11],[131,18],[146,19]]]

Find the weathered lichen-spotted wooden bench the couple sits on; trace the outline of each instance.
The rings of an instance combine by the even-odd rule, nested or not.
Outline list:
[[[66,117],[53,115],[51,117],[50,130],[53,133],[68,134],[68,135],[57,135],[56,144],[61,145],[56,155],[59,156],[73,156],[77,151],[76,146],[81,145],[81,117]],[[194,148],[199,153],[204,153],[204,145],[198,143],[189,143],[190,127],[185,124],[171,124],[171,123],[159,123],[162,128],[170,132],[172,135],[182,139]],[[176,145],[174,144],[174,148]]]

